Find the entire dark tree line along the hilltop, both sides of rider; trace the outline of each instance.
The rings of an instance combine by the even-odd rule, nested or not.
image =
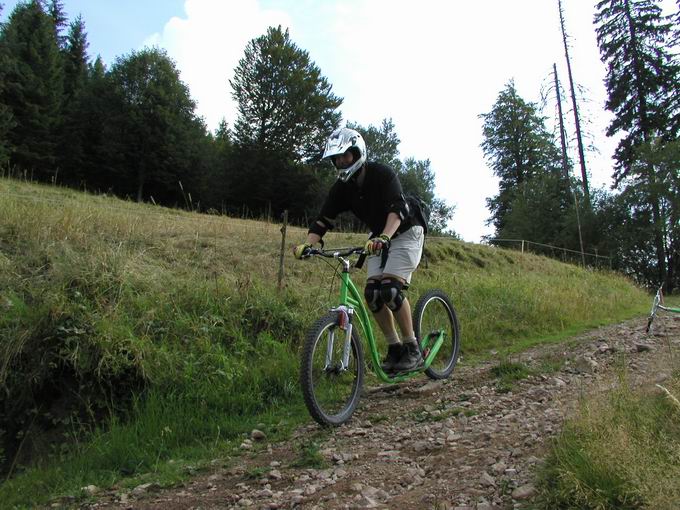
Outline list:
[[[487,201],[494,237],[607,254],[615,269],[671,291],[680,279],[680,14],[664,17],[659,4],[596,4],[606,108],[614,114],[607,134],[620,140],[612,190],[589,191],[582,160],[581,178],[572,177],[573,162],[540,108],[512,81],[481,115],[482,148],[499,178]],[[287,209],[302,224],[316,214],[335,178],[319,157],[343,99],[287,30],[270,27],[247,44],[225,84],[237,119],[215,132],[162,49],[134,51],[107,67],[88,48],[84,20],[69,22],[60,0],[19,3],[0,26],[0,165],[39,181],[204,212]],[[400,157],[391,119],[349,125],[365,136],[371,159],[391,164],[405,190],[430,205],[432,230],[453,234],[453,207],[435,196],[430,161]],[[349,216],[341,224],[360,228]]]

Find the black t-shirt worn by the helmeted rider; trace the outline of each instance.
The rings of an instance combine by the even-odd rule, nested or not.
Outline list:
[[[390,212],[396,212],[402,217],[397,232],[404,232],[413,226],[408,214],[404,214],[408,213],[408,206],[399,177],[389,166],[381,163],[366,163],[361,187],[357,184],[356,177],[348,182],[335,181],[321,208],[321,217],[333,220],[344,211],[352,211],[368,225],[374,235],[382,233]]]

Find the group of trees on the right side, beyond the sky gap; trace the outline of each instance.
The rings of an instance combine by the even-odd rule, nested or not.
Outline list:
[[[607,135],[619,137],[613,189],[589,192],[585,174],[572,177],[539,106],[510,81],[481,115],[499,178],[489,223],[496,238],[611,255],[615,269],[670,292],[680,285],[680,14],[664,16],[659,0],[601,0],[594,23]]]

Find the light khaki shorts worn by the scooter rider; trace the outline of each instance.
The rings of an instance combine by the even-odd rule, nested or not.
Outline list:
[[[389,255],[385,267],[381,268],[381,255],[371,255],[366,259],[368,278],[380,278],[383,274],[391,274],[411,283],[411,275],[420,263],[423,255],[425,235],[423,227],[416,225],[399,234],[390,243]]]

